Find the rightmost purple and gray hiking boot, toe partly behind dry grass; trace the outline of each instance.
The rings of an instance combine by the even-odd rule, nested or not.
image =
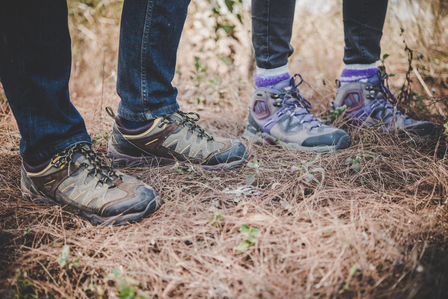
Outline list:
[[[387,77],[378,70],[367,82],[350,82],[340,86],[333,105],[346,105],[345,116],[356,126],[378,126],[380,132],[396,130],[420,139],[439,134],[439,126],[434,122],[414,120],[396,108],[394,95],[384,85]]]

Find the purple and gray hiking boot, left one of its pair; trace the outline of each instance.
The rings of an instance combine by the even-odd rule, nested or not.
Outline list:
[[[302,76],[295,74],[272,88],[256,88],[243,137],[314,152],[349,147],[350,137],[344,130],[326,126],[310,113],[310,102],[299,94],[302,82]]]

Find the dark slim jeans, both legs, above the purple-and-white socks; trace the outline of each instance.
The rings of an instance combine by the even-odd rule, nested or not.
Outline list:
[[[275,69],[288,63],[295,0],[252,0],[252,42],[257,66]],[[388,0],[343,0],[346,64],[379,60]],[[306,20],[304,20],[306,22]]]

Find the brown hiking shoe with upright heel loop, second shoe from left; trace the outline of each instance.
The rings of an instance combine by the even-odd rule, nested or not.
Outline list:
[[[106,111],[115,120],[108,148],[114,165],[149,167],[178,161],[206,170],[232,170],[248,156],[243,143],[206,133],[195,123],[199,120],[197,113],[177,111],[132,130],[125,127],[110,107]],[[189,116],[192,114],[196,118]]]

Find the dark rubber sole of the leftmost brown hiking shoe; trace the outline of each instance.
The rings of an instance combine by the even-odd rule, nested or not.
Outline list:
[[[69,205],[61,205],[57,203],[55,200],[43,195],[39,194],[39,191],[37,191],[37,188],[33,187],[33,185],[30,185],[29,188],[26,187],[25,182],[23,181],[23,178],[20,183],[22,187],[22,195],[24,198],[30,200],[33,204],[39,204],[39,205],[57,205],[63,207],[63,209],[67,212],[72,212],[74,214],[77,214],[83,218],[86,218],[90,221],[90,223],[94,225],[98,224],[105,224],[105,225],[126,225],[130,222],[138,222],[142,220],[143,218],[153,214],[161,204],[160,196],[154,193],[155,197],[152,199],[146,206],[145,210],[138,213],[129,213],[125,215],[118,215],[118,216],[111,216],[111,217],[102,217],[96,214],[90,214],[83,212],[79,209],[70,207]],[[155,192],[155,191],[154,191]]]

